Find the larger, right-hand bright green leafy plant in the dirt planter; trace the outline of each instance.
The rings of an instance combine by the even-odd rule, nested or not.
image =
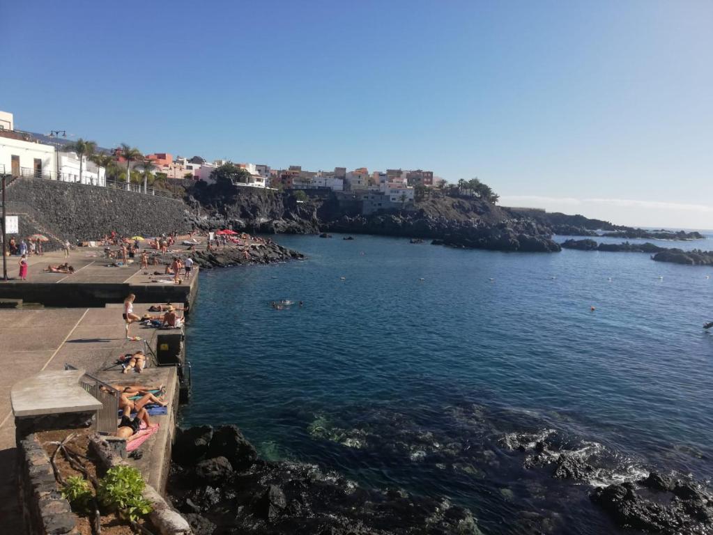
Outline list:
[[[101,478],[97,496],[104,506],[116,508],[135,522],[151,512],[151,504],[143,497],[144,487],[137,469],[120,465],[108,469]]]

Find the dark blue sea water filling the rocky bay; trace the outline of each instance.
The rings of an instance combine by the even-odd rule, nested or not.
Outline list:
[[[341,238],[280,236],[308,259],[200,274],[184,425],[447,499],[485,534],[619,533],[593,487],[711,477],[713,268]],[[595,471],[553,478],[563,452]]]

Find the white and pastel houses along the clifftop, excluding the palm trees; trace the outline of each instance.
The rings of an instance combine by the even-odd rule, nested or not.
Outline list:
[[[66,150],[66,133],[49,135],[26,133],[14,128],[11,113],[0,111],[0,173],[16,177],[43,177],[65,182],[81,182],[106,186],[106,169],[88,160],[86,156]],[[113,154],[118,163],[126,165],[120,149],[102,152]],[[202,157],[173,157],[167,152],[145,155],[143,161],[153,163],[153,172],[164,173],[173,180],[213,181],[212,172],[227,160],[207,162]],[[143,162],[130,162],[130,167]],[[288,169],[272,169],[268,165],[235,164],[247,173],[234,180],[241,187],[275,189],[302,189],[338,192],[340,196],[363,202],[366,213],[378,209],[404,207],[414,202],[416,187],[435,187],[444,182],[432,171],[387,169],[386,172],[369,173],[365,167],[347,171],[335,167],[333,171],[307,171],[299,165]],[[81,172],[80,172],[81,169]]]

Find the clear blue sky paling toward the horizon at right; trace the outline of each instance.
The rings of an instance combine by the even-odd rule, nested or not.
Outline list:
[[[713,227],[713,2],[0,4],[17,128]],[[10,83],[7,83],[9,80]]]

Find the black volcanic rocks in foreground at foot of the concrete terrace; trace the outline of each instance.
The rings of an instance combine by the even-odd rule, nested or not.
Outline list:
[[[234,425],[178,430],[168,494],[195,535],[479,534],[468,509],[364,489],[314,464],[260,459]]]

